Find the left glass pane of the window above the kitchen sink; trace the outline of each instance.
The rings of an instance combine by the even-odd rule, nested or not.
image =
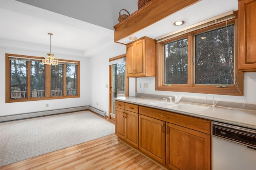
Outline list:
[[[188,84],[188,39],[164,44],[164,84]]]

